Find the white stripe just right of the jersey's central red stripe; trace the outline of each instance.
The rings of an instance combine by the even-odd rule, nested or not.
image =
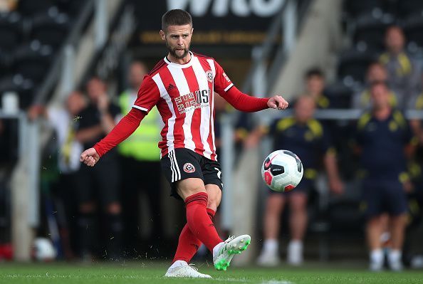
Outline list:
[[[207,75],[204,72],[204,69],[199,63],[197,57],[192,58],[192,69],[194,70],[195,77],[197,77],[197,83],[199,86],[199,90],[209,90],[209,83],[207,83]],[[210,90],[211,91],[211,90]],[[210,93],[209,104],[211,105],[212,94]],[[204,152],[203,155],[207,159],[211,158],[211,149],[207,138],[209,137],[210,133],[210,122],[213,124],[213,121],[210,117],[210,107],[202,107],[202,120],[200,122],[200,137],[203,143]],[[211,121],[210,121],[211,120]]]

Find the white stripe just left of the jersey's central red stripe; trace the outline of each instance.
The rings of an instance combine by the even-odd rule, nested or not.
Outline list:
[[[174,83],[177,85],[177,88],[179,90],[179,95],[187,95],[191,93],[189,91],[189,86],[187,82],[187,78],[185,78],[184,71],[182,68],[176,68],[172,65],[168,65],[167,68],[170,71],[170,74],[172,74]],[[185,119],[184,124],[182,125],[182,129],[184,130],[184,145],[185,148],[191,149],[192,151],[195,151],[195,143],[194,140],[192,140],[192,133],[191,133],[191,122],[192,122],[192,115],[194,115],[195,108],[192,107],[191,110],[188,110],[185,112]]]

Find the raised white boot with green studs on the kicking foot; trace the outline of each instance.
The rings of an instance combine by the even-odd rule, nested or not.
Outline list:
[[[234,255],[242,253],[251,243],[251,236],[231,236],[213,248],[213,263],[217,270],[226,270]]]

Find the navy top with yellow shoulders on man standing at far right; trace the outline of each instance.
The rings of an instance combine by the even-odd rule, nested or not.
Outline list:
[[[367,177],[397,179],[406,170],[404,147],[412,141],[412,132],[401,112],[394,110],[386,120],[365,113],[357,122],[356,140]]]

